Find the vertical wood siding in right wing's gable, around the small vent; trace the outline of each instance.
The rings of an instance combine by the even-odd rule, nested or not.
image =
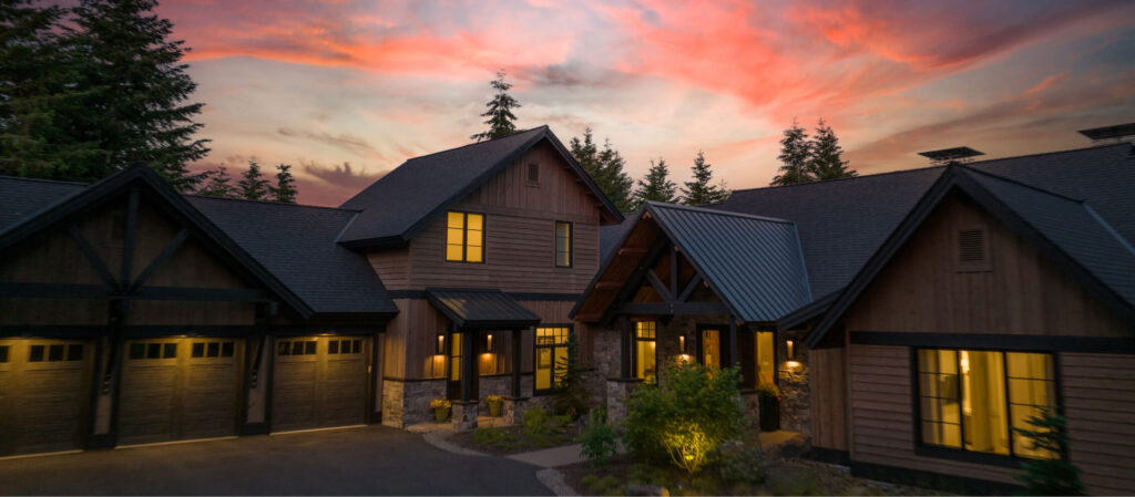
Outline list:
[[[956,233],[985,227],[991,271],[959,272]],[[1130,337],[1132,329],[973,202],[947,199],[848,311],[849,331]]]

